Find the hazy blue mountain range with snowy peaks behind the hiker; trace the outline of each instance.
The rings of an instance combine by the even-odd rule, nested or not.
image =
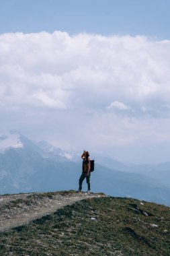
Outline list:
[[[94,156],[95,171],[91,173],[94,192],[170,205],[170,163],[126,164]],[[81,164],[77,155],[47,141],[32,141],[17,131],[0,135],[1,194],[78,189]],[[86,187],[84,182],[83,189]]]

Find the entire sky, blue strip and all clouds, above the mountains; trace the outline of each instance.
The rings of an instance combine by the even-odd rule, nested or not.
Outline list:
[[[169,161],[169,13],[168,0],[1,0],[1,129]]]

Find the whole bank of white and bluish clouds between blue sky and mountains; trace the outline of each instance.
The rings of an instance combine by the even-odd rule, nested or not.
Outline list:
[[[142,145],[142,158],[147,146],[170,141],[169,70],[167,40],[1,34],[2,126],[126,160],[126,149]]]

